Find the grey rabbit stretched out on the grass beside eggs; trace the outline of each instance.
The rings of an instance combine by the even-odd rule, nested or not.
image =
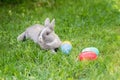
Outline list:
[[[49,18],[46,18],[44,25],[35,24],[28,27],[18,37],[18,41],[25,41],[30,38],[35,43],[40,45],[41,49],[51,50],[56,52],[56,49],[60,47],[61,40],[58,35],[54,32],[55,19],[50,22]]]

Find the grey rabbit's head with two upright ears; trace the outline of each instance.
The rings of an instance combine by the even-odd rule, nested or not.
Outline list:
[[[54,25],[55,19],[50,22],[49,18],[46,18],[44,22],[44,28],[39,35],[40,42],[52,42],[54,40]]]

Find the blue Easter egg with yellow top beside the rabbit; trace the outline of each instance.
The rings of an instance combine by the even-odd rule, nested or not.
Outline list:
[[[69,54],[72,50],[72,45],[70,42],[63,42],[60,48],[64,54]]]

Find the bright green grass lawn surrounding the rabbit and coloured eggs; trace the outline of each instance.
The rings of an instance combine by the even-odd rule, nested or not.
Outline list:
[[[115,1],[115,0],[114,0]],[[39,0],[0,4],[0,80],[119,80],[120,3],[111,0]],[[41,50],[31,40],[17,42],[28,26],[56,19],[55,32],[72,43],[70,55]],[[86,47],[100,51],[95,61],[76,61]]]

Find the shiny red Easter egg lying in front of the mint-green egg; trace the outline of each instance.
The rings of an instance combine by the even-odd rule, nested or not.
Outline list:
[[[97,55],[95,52],[92,51],[86,51],[86,52],[82,52],[79,55],[79,59],[82,60],[95,60],[97,59]]]

